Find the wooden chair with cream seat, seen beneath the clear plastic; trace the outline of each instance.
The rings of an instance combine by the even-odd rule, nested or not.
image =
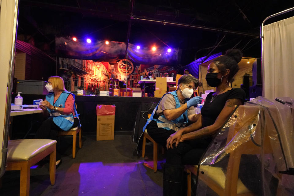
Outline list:
[[[244,110],[244,106],[239,106],[237,110]],[[256,113],[248,118],[255,118],[258,115],[258,108],[256,107]],[[242,113],[243,111],[240,111]],[[238,133],[242,122],[239,123],[238,126],[231,126],[229,128],[227,144],[232,140],[236,133]],[[260,125],[258,125],[260,126]],[[266,134],[264,137],[264,154],[273,153],[271,148],[269,137]],[[204,182],[208,187],[210,187],[213,191],[215,191],[218,195],[227,196],[227,195],[242,195],[249,196],[254,195],[250,190],[245,187],[245,185],[238,178],[239,175],[239,164],[242,154],[260,154],[261,149],[257,145],[255,145],[251,139],[237,146],[232,152],[230,152],[230,157],[228,160],[228,167],[226,174],[222,171],[222,168],[213,167],[213,166],[200,166],[199,176],[202,182]],[[192,172],[197,175],[198,166],[195,165],[185,165],[185,168],[188,173]],[[188,194],[191,195],[191,187],[190,187],[190,175],[188,175]]]

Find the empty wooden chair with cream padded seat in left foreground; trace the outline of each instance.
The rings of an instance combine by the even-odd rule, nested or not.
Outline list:
[[[49,175],[55,184],[56,141],[47,139],[21,139],[8,141],[6,170],[20,170],[20,196],[30,193],[30,167],[50,155]]]

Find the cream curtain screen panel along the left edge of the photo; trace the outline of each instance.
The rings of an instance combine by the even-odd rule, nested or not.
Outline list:
[[[2,149],[3,129],[6,118],[6,92],[9,66],[14,59],[13,40],[16,36],[18,0],[0,0],[0,149]],[[0,152],[0,164],[2,152]],[[1,176],[0,176],[1,177]]]

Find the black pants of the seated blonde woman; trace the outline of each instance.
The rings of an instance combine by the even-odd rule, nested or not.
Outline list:
[[[79,119],[74,118],[74,124],[71,128],[77,127],[78,125],[79,125]],[[60,127],[54,123],[53,118],[49,118],[43,121],[43,123],[41,124],[41,126],[36,132],[35,138],[56,140],[57,141],[56,151],[58,152],[60,151],[60,146],[61,146],[59,138],[58,138],[58,131],[61,131],[61,130],[62,129],[60,129]],[[60,159],[60,155],[59,153],[57,153],[56,160],[59,160],[59,159]]]

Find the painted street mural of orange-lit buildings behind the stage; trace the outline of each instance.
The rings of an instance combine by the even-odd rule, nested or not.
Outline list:
[[[95,91],[108,91],[111,79],[117,79],[123,83],[127,82],[128,88],[139,87],[140,77],[147,77],[152,72],[153,77],[163,77],[168,73],[175,77],[176,67],[164,65],[134,66],[130,60],[122,59],[117,63],[95,62],[92,60],[81,60],[71,58],[58,58],[58,75],[63,78],[65,88],[68,91],[84,89],[86,94],[95,94]],[[128,73],[126,78],[126,73]]]

